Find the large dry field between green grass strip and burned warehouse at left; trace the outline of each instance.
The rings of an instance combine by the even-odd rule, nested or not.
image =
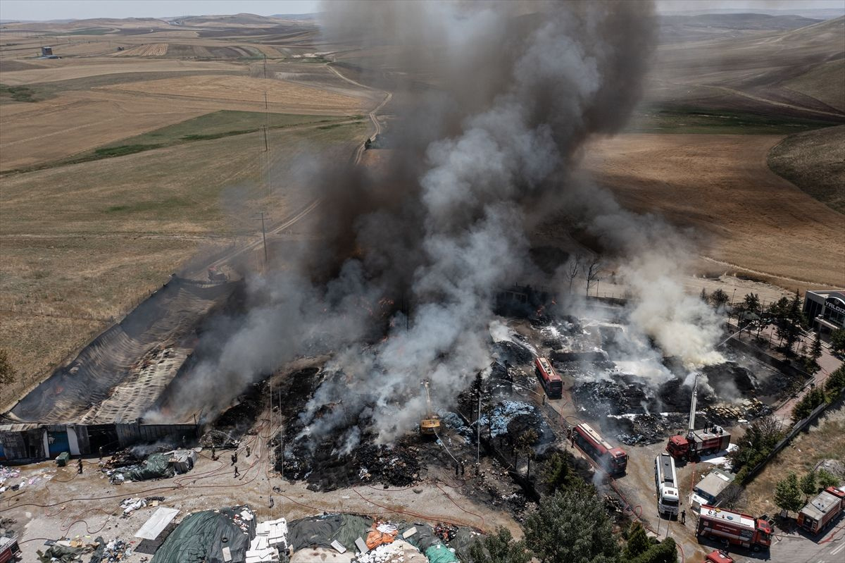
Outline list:
[[[19,396],[194,255],[260,236],[311,197],[317,155],[346,159],[363,120],[270,131],[270,193],[259,138],[239,134],[3,178],[0,196],[0,348]]]

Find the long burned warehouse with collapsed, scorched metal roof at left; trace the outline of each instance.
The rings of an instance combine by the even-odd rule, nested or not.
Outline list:
[[[150,424],[198,342],[198,327],[235,283],[172,276],[0,415],[0,460],[111,452],[135,443],[193,440],[196,420]]]

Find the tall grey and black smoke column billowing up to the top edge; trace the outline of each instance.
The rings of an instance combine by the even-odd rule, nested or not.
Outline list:
[[[395,68],[433,88],[396,96],[385,167],[321,172],[324,239],[254,282],[252,309],[172,403],[213,411],[297,354],[330,350],[328,369],[343,377],[303,413],[310,432],[362,415],[391,440],[419,416],[421,399],[407,401],[420,397],[420,380],[450,398],[489,365],[493,294],[527,267],[526,227],[567,205],[608,249],[648,248],[613,225],[623,217],[619,228],[640,233],[648,222],[575,177],[573,164],[586,139],[628,118],[656,25],[650,3],[626,0],[324,8],[330,41],[398,45]],[[379,340],[384,325],[370,311],[385,296],[412,307]],[[328,402],[341,407],[312,420]]]

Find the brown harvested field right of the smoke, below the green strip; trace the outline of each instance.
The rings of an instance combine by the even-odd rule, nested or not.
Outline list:
[[[766,166],[781,139],[626,134],[595,142],[586,166],[623,205],[695,227],[714,266],[783,287],[845,287],[845,216]]]

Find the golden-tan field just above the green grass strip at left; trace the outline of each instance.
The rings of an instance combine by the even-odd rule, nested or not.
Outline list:
[[[134,64],[136,60],[79,70],[149,68]],[[40,71],[8,74],[33,72]],[[0,105],[0,171],[57,161],[204,113],[263,112],[265,91],[270,112],[352,115],[363,113],[369,103],[368,93],[346,96],[288,81],[225,74],[64,91],[46,101]]]

